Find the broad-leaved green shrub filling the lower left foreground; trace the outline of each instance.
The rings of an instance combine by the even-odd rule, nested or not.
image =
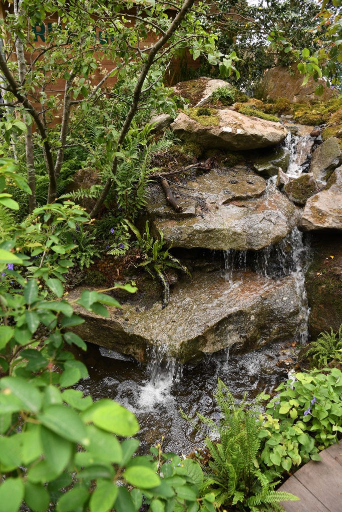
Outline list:
[[[18,207],[3,193],[6,180],[27,187],[10,162],[2,161],[0,203]],[[36,230],[39,242],[17,247],[16,233],[0,244],[0,500],[7,512],[22,505],[44,512],[137,512],[143,495],[151,510],[167,502],[168,510],[197,510],[211,503],[198,497],[202,470],[182,463],[160,447],[151,456],[135,456],[139,442],[133,413],[115,401],[93,402],[72,389],[88,375],[65,345],[86,349],[70,331],[84,320],[74,305],[108,316],[106,306],[119,306],[104,293],[84,290],[68,301],[63,273],[74,245],[63,245],[63,231],[84,224],[88,216],[73,203],[47,205],[34,212],[36,222],[18,226],[21,237]],[[40,264],[35,258],[39,255]],[[116,286],[117,287],[117,286]],[[135,288],[121,286],[129,292]],[[171,464],[163,465],[167,461]],[[130,492],[128,488],[130,488]],[[159,508],[157,508],[159,506]],[[211,510],[211,509],[210,509]]]

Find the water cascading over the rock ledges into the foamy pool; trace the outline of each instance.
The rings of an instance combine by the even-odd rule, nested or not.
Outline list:
[[[299,176],[306,159],[307,136],[289,136],[286,146],[290,150],[288,174]],[[275,187],[275,177],[268,188]],[[266,192],[267,193],[267,192]],[[297,292],[300,323],[295,336],[299,343],[308,338],[307,298],[305,271],[308,247],[295,228],[279,244],[256,252],[224,252],[226,281],[238,290],[244,271],[250,269],[263,276],[265,282],[292,274]],[[242,398],[244,393],[253,399],[260,392],[271,393],[287,378],[287,371],[276,366],[279,358],[291,355],[295,349],[291,342],[274,342],[248,353],[234,352],[234,347],[207,355],[194,364],[180,365],[164,345],[154,346],[144,365],[130,356],[88,344],[88,351],[80,355],[88,367],[89,377],[78,386],[93,399],[109,397],[134,412],[140,424],[140,452],[146,453],[151,445],[164,437],[164,450],[178,454],[192,452],[201,442],[192,426],[180,416],[179,409],[191,418],[196,411],[215,418],[218,416],[213,393],[217,379],[222,379],[232,394]],[[285,354],[285,355],[284,355]]]

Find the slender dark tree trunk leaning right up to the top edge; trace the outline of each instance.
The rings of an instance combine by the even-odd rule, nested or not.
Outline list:
[[[132,101],[132,104],[131,104],[131,108],[130,108],[130,110],[129,110],[128,114],[127,114],[127,117],[125,119],[125,122],[123,124],[123,127],[122,127],[122,129],[120,131],[120,135],[119,135],[118,140],[117,140],[116,151],[120,151],[120,146],[122,146],[122,144],[123,144],[123,142],[125,140],[125,137],[127,135],[127,132],[128,132],[128,130],[129,130],[130,126],[131,126],[132,120],[133,120],[133,118],[134,118],[134,116],[136,114],[136,111],[138,110],[139,99],[140,99],[140,96],[142,94],[144,81],[145,81],[145,78],[147,77],[147,74],[148,74],[149,70],[151,69],[151,66],[153,65],[154,58],[155,58],[156,54],[158,53],[158,51],[160,49],[162,49],[166,45],[168,40],[173,36],[175,31],[179,27],[180,23],[182,23],[183,19],[185,18],[187,13],[192,8],[193,4],[194,4],[194,0],[185,0],[185,2],[183,3],[182,7],[180,8],[180,10],[178,11],[177,15],[175,16],[173,22],[171,23],[170,27],[168,28],[168,30],[152,46],[152,48],[151,48],[151,50],[150,50],[150,52],[149,52],[149,54],[147,56],[147,59],[145,60],[143,68],[140,71],[140,74],[138,76],[137,82],[135,84],[135,88],[134,88],[134,92],[133,92],[133,101]],[[113,158],[112,167],[111,167],[111,174],[112,174],[112,176],[115,176],[115,174],[116,174],[117,164],[118,164],[117,157],[115,156]],[[96,201],[95,206],[93,207],[93,209],[90,212],[90,217],[91,218],[94,218],[94,217],[97,216],[100,208],[102,207],[103,203],[106,200],[106,197],[108,195],[108,192],[110,190],[111,185],[112,185],[112,177],[109,176],[107,178],[107,181],[106,181],[106,184],[104,186],[104,189],[103,189],[102,193],[100,194],[99,198]]]

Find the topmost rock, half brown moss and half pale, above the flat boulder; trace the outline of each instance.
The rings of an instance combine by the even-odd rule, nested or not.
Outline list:
[[[178,96],[189,100],[189,106],[201,106],[208,103],[211,93],[220,87],[233,87],[224,80],[200,77],[194,80],[176,83],[173,90]]]

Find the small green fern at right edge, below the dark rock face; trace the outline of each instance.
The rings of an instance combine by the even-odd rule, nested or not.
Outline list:
[[[342,361],[342,324],[338,332],[334,333],[330,328],[321,332],[315,342],[311,342],[307,356],[313,359],[316,368],[325,368],[332,361]]]

